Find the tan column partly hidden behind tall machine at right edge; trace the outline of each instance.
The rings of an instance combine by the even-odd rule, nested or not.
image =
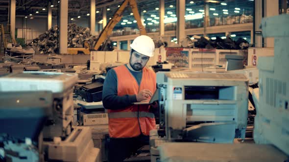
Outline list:
[[[264,0],[264,17],[279,15],[279,0]],[[264,39],[265,47],[274,47],[274,38]]]

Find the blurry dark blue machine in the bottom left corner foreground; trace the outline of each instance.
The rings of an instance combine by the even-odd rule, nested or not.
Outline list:
[[[52,114],[52,93],[1,92],[0,161],[39,162],[42,129]]]

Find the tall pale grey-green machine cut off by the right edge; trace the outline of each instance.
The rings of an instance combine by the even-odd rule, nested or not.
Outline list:
[[[274,56],[259,57],[254,141],[273,144],[289,156],[289,15],[262,20],[263,37],[274,37]],[[259,100],[258,100],[259,98]]]

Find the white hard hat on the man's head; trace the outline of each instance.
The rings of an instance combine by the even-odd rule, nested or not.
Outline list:
[[[154,54],[154,42],[148,36],[138,36],[131,44],[130,47],[135,51],[148,56],[153,57]]]

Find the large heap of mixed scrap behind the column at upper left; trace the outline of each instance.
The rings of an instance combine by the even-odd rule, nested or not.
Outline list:
[[[88,27],[80,27],[74,23],[68,24],[67,46],[69,48],[83,48],[85,41],[92,47],[96,43],[97,37],[90,34]],[[31,45],[35,51],[40,51],[40,54],[58,53],[57,25],[39,35],[39,37],[34,39],[29,45]]]

